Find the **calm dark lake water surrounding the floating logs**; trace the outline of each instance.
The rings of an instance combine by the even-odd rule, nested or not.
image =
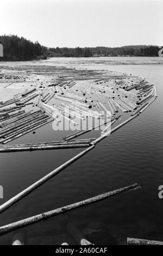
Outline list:
[[[57,239],[60,241],[60,234],[68,237],[65,223],[72,222],[85,234],[89,233],[90,228],[103,227],[119,242],[127,236],[163,241],[163,199],[158,198],[158,187],[163,185],[163,65],[87,65],[87,68],[123,71],[146,77],[156,85],[158,99],[138,118],[103,140],[82,159],[3,212],[0,225],[136,182],[142,187],[141,190],[120,194],[20,231],[30,244],[54,244]],[[54,132],[49,124],[46,129],[37,130],[35,135],[31,133],[17,139],[15,144],[57,140],[61,136],[62,132]],[[96,132],[87,135],[94,136],[97,136]],[[0,203],[80,151],[70,149],[1,154],[0,184],[4,187],[4,199]],[[0,243],[10,244],[13,234],[1,236]],[[104,242],[97,240],[96,243]]]

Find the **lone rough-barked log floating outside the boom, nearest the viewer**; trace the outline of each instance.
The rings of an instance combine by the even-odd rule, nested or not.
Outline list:
[[[63,207],[55,209],[55,210],[44,212],[43,214],[35,215],[32,217],[26,218],[24,220],[21,220],[21,221],[17,221],[14,223],[4,225],[3,227],[0,227],[0,235],[4,235],[4,234],[7,234],[16,229],[27,227],[28,225],[31,225],[31,224],[34,224],[34,223],[37,223],[37,222],[40,222],[43,220],[47,220],[48,218],[57,216],[59,214],[64,214],[68,211],[72,211],[72,210],[80,208],[82,206],[86,206],[89,204],[93,204],[93,203],[102,201],[106,198],[116,196],[117,194],[123,193],[125,191],[129,191],[129,190],[133,190],[138,187],[139,186],[137,184],[133,184],[130,186],[118,188],[117,190],[113,190],[113,191],[110,191],[110,192],[107,192],[104,194],[99,194],[96,197],[91,197],[89,199],[85,199],[85,200],[77,202],[77,203],[73,203],[73,204],[66,205],[66,206],[63,206]]]

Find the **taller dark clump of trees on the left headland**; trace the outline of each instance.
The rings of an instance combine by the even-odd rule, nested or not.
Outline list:
[[[0,61],[45,59],[48,55],[47,47],[17,35],[0,36],[0,44],[3,45],[3,57]]]

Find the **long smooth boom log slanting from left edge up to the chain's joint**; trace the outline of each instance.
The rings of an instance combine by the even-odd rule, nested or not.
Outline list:
[[[31,193],[33,190],[35,190],[37,187],[41,186],[43,183],[45,183],[47,180],[53,178],[53,176],[57,175],[58,173],[60,173],[62,170],[64,170],[67,166],[70,166],[70,164],[72,164],[73,162],[77,161],[80,157],[84,156],[87,152],[89,152],[90,150],[92,150],[93,148],[95,148],[95,145],[92,145],[91,147],[85,149],[84,151],[82,151],[81,153],[79,153],[78,155],[74,156],[72,159],[68,160],[67,162],[65,162],[64,164],[62,164],[61,166],[59,166],[57,169],[53,170],[51,173],[45,175],[43,178],[41,178],[40,180],[37,180],[34,184],[32,184],[31,186],[27,187],[25,190],[23,190],[22,192],[18,193],[15,197],[12,197],[10,200],[8,200],[7,202],[5,202],[4,204],[2,204],[0,206],[0,213],[5,211],[6,209],[9,208],[9,206],[11,206],[12,204],[15,204],[18,200],[20,200],[21,198],[27,196],[27,194]]]

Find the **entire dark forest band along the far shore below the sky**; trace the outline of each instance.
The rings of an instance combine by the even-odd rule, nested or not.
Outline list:
[[[147,56],[157,57],[158,46],[131,45],[122,47],[56,47],[48,48],[17,35],[0,36],[4,56],[0,61],[36,60],[50,57]]]

